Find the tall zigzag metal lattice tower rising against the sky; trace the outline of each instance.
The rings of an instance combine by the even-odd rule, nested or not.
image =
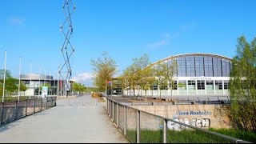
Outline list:
[[[64,42],[62,44],[62,56],[64,58],[64,64],[58,69],[58,74],[62,78],[61,92],[66,95],[66,91],[70,90],[70,77],[72,70],[70,67],[70,57],[74,53],[74,47],[70,43],[71,35],[73,34],[73,26],[71,21],[71,15],[74,13],[75,6],[71,0],[64,0],[62,10],[66,16],[65,21],[62,23],[60,29],[64,35]]]

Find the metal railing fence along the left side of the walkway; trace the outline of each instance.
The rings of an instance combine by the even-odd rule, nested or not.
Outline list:
[[[26,99],[19,102],[2,102],[0,125],[54,106],[56,106],[56,97]]]

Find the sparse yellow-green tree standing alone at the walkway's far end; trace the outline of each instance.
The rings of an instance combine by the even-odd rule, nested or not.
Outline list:
[[[91,59],[90,64],[94,70],[94,85],[102,91],[105,90],[106,82],[111,81],[111,78],[117,72],[116,62],[109,54],[103,52],[102,58]]]

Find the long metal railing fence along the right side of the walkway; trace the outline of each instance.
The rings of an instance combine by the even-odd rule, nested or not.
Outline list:
[[[118,130],[133,143],[250,143],[176,122],[106,98],[106,110]]]

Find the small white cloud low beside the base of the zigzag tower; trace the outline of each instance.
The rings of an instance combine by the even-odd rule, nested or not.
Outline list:
[[[77,76],[72,78],[72,81],[85,84],[86,86],[93,86],[93,84],[92,84],[93,77],[94,77],[93,74],[82,73],[82,74],[78,74]]]

